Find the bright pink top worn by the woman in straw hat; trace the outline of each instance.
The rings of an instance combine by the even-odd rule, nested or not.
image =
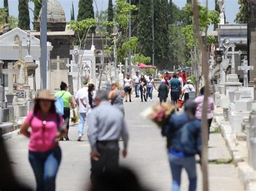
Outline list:
[[[31,126],[30,151],[46,152],[58,146],[58,142],[55,142],[55,137],[58,125],[63,124],[63,118],[59,117],[58,119],[57,114],[49,114],[45,122],[43,124],[40,112],[37,115],[33,115],[33,111],[30,111],[26,117],[25,123]]]

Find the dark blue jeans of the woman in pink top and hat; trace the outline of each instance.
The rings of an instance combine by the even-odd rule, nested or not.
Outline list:
[[[36,176],[36,191],[55,191],[55,180],[62,151],[59,146],[48,152],[29,151],[29,162]]]

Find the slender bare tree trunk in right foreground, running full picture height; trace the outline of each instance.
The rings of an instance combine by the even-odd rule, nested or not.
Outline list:
[[[205,79],[205,93],[203,103],[203,115],[202,115],[202,152],[201,152],[201,167],[203,171],[203,190],[208,191],[208,156],[207,156],[207,145],[208,145],[208,123],[207,123],[207,104],[209,96],[209,83],[208,83],[208,62],[206,47],[203,44],[203,40],[200,36],[199,29],[199,8],[197,0],[193,1],[193,17],[196,26],[196,36],[199,41],[199,48],[201,51],[201,60],[204,65],[203,74]],[[198,79],[197,79],[198,80]]]

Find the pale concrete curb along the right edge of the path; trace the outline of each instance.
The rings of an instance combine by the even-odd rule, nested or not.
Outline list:
[[[232,132],[230,122],[225,121],[223,115],[214,116],[215,122],[221,129],[228,151],[238,169],[239,179],[244,186],[245,191],[255,191],[256,171],[248,164],[248,151],[246,141],[237,140],[236,133]]]

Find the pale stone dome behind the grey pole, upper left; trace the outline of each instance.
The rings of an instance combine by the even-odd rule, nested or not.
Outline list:
[[[39,13],[41,16],[42,9]],[[57,0],[47,1],[47,22],[48,23],[65,23],[66,17],[62,5]]]

